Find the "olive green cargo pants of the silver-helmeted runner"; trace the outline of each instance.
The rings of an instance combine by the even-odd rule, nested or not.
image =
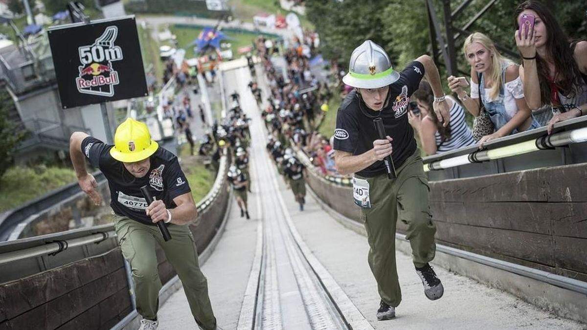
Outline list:
[[[414,266],[422,267],[434,259],[436,226],[428,204],[428,179],[424,174],[420,150],[410,156],[399,169],[397,178],[387,174],[360,177],[369,182],[370,208],[361,208],[369,241],[369,267],[377,281],[379,295],[390,306],[402,301],[396,269],[396,222],[407,224]]]

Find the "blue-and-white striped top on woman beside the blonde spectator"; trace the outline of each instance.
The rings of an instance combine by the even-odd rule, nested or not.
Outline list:
[[[450,138],[441,142],[440,133],[438,131],[434,133],[437,146],[436,153],[473,146],[475,144],[471,129],[469,129],[467,122],[465,122],[465,111],[463,107],[452,97],[451,101],[453,101],[453,106],[450,108]]]

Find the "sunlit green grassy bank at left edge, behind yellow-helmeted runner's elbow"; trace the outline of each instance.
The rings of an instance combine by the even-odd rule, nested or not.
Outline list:
[[[0,212],[18,207],[75,180],[75,171],[72,169],[43,165],[11,167],[0,178]]]

